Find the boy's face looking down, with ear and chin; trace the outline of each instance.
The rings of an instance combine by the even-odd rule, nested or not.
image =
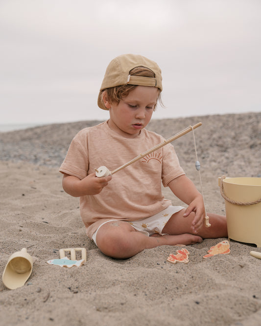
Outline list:
[[[149,123],[157,103],[159,90],[151,86],[137,86],[118,103],[106,102],[109,108],[109,127],[126,138],[135,138]]]

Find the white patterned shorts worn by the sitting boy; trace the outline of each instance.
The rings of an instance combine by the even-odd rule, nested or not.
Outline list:
[[[165,210],[160,211],[159,213],[152,215],[150,217],[146,217],[146,218],[142,218],[142,220],[137,220],[137,221],[125,221],[127,223],[129,223],[131,226],[134,227],[135,230],[150,236],[153,233],[159,233],[161,235],[164,235],[166,233],[162,233],[162,230],[164,229],[167,221],[170,219],[170,217],[177,213],[180,210],[183,210],[184,207],[182,206],[168,206]],[[102,223],[98,229],[95,231],[95,233],[93,234],[93,240],[96,244],[96,235],[97,232],[99,231],[99,228],[108,222],[112,222],[112,221],[120,221],[120,220],[110,220],[110,221],[106,221],[104,223]]]

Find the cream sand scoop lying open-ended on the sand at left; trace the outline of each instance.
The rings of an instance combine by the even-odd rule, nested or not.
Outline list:
[[[2,280],[8,289],[14,290],[24,285],[33,269],[33,258],[26,248],[10,256],[3,271]]]

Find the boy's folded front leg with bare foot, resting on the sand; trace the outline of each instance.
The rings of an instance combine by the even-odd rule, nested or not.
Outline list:
[[[189,228],[187,229],[189,230]],[[189,245],[198,242],[202,242],[202,238],[191,233],[147,236],[136,231],[124,221],[105,223],[100,227],[96,236],[96,243],[100,251],[104,255],[119,259],[129,258],[144,249],[162,245]]]

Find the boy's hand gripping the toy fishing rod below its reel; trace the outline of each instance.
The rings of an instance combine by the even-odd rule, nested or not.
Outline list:
[[[112,176],[96,177],[95,173],[89,174],[81,180],[81,186],[86,189],[86,195],[97,195],[112,180]]]

